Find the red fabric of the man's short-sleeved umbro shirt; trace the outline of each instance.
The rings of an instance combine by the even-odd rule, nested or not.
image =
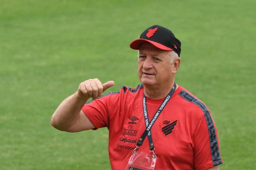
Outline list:
[[[184,100],[178,94],[181,90],[187,91],[178,87],[151,128],[157,155],[155,170],[205,170],[213,167],[204,113],[192,102]],[[113,170],[125,169],[135,141],[138,142],[145,130],[142,97],[143,88],[135,93],[127,89],[124,93],[121,89],[118,94],[109,94],[82,108],[96,128],[109,129],[109,159]],[[147,98],[150,121],[162,101]],[[166,121],[175,120],[178,122],[172,133],[165,136],[162,127],[166,126]],[[138,151],[150,153],[147,137]]]

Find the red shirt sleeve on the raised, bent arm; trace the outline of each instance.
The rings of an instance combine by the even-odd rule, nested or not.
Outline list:
[[[113,113],[119,102],[119,92],[111,92],[102,96],[98,100],[92,100],[87,102],[82,111],[96,127],[98,128],[107,127],[109,128],[109,113]]]

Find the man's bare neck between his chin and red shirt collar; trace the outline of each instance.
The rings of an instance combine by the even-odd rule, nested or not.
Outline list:
[[[167,94],[171,91],[173,87],[174,81],[171,84],[165,85],[163,87],[152,87],[152,86],[146,86],[144,85],[144,93],[146,97],[152,98],[152,99],[162,99],[167,96]],[[176,86],[176,89],[179,86]],[[176,90],[175,89],[175,90]]]

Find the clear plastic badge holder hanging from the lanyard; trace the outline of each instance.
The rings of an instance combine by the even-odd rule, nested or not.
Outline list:
[[[153,157],[152,153],[136,151],[132,153],[126,170],[154,170],[156,158],[156,156]]]

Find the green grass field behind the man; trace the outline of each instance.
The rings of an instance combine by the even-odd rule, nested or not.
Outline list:
[[[218,128],[221,169],[256,166],[256,2],[0,0],[0,169],[110,169],[108,130],[54,129],[80,82],[135,87],[132,40],[151,25],[182,42],[177,84]]]

